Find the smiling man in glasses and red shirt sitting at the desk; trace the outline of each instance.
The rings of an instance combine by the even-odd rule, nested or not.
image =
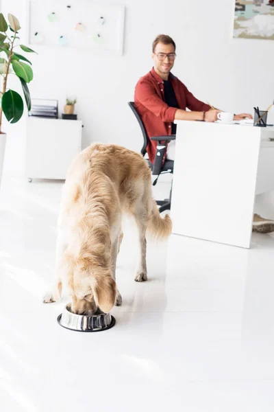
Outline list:
[[[175,135],[174,120],[203,120],[215,122],[221,110],[211,108],[208,104],[195,98],[187,87],[172,73],[176,45],[173,39],[160,34],[153,41],[152,58],[154,67],[140,78],[136,84],[134,102],[148,137]],[[188,108],[190,111],[186,111]],[[234,120],[248,117],[247,113],[234,115]],[[149,139],[147,153],[153,163],[156,155],[157,141]],[[175,159],[175,140],[166,150],[166,159]],[[274,231],[274,221],[254,215],[253,231],[269,233]]]

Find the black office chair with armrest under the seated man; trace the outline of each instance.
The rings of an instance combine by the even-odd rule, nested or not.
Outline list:
[[[141,154],[142,156],[145,156],[145,154],[147,153],[147,143],[149,141],[149,137],[147,136],[145,126],[142,123],[142,119],[140,118],[138,111],[136,111],[134,102],[129,102],[128,104],[129,104],[129,107],[132,109],[134,115],[136,116],[136,119],[138,120],[138,124],[140,125],[140,128],[142,130],[142,137],[144,138],[144,144],[142,145]],[[154,163],[151,163],[151,161],[147,159],[147,162],[149,163],[149,167],[151,168],[152,174],[157,176],[157,178],[153,182],[153,185],[155,185],[158,181],[158,177],[160,176],[160,174],[164,174],[164,173],[173,174],[173,163],[174,163],[173,160],[166,160],[164,164],[162,164],[162,161],[164,159],[164,152],[166,150],[166,145],[169,143],[169,141],[175,140],[176,137],[175,135],[155,136],[155,137],[151,137],[150,139],[159,142],[157,145],[157,152],[156,152]],[[171,184],[171,192],[172,192],[172,184]],[[165,199],[164,201],[156,201],[157,205],[160,206],[159,207],[160,213],[164,210],[171,209],[171,192],[169,195],[169,199]]]

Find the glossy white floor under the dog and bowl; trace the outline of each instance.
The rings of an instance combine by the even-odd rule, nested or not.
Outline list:
[[[249,251],[179,236],[149,243],[149,282],[138,284],[127,222],[116,326],[71,332],[56,322],[68,299],[41,301],[61,185],[3,179],[1,411],[273,412],[274,238],[256,234]]]

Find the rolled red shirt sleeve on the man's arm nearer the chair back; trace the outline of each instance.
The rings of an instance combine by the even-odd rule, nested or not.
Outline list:
[[[147,80],[140,80],[135,90],[136,100],[162,122],[174,122],[177,108],[168,106],[156,93],[155,87]]]

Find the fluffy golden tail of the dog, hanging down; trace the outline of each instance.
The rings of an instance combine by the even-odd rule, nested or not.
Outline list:
[[[151,213],[147,222],[147,232],[152,238],[167,238],[171,234],[172,222],[169,215],[160,216],[157,203],[151,199]]]

